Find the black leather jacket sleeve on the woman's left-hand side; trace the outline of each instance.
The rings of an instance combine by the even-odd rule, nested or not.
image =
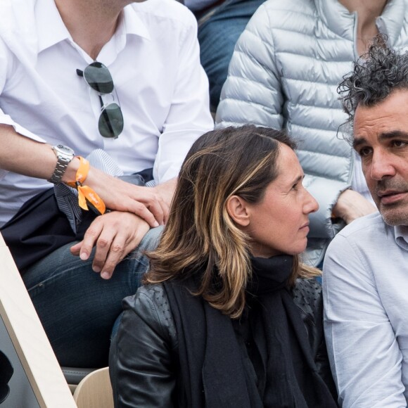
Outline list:
[[[174,392],[177,333],[164,287],[141,286],[122,305],[109,354],[115,407],[179,407]]]

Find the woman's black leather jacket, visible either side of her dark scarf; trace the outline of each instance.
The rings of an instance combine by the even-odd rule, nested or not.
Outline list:
[[[314,279],[298,279],[292,293],[319,374],[336,400],[324,342],[321,286]],[[142,286],[123,305],[120,329],[110,348],[115,407],[186,407],[184,396],[177,395],[177,333],[165,289]]]

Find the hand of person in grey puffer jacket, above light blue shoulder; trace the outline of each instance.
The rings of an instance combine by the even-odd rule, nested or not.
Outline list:
[[[353,190],[343,191],[333,207],[333,215],[343,218],[346,224],[350,224],[355,219],[376,211],[377,208],[369,200],[366,200],[360,193]]]

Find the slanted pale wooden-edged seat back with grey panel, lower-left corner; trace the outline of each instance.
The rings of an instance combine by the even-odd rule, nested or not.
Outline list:
[[[76,407],[13,257],[0,234],[0,350],[13,367],[1,407]],[[9,381],[8,381],[9,380]],[[6,382],[6,383],[4,383]]]

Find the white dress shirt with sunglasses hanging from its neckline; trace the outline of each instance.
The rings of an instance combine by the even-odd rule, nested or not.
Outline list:
[[[105,150],[125,174],[153,167],[157,183],[176,177],[198,136],[213,128],[196,19],[174,0],[124,9],[98,55],[113,77],[125,127],[98,132],[98,95],[76,70],[93,62],[63,24],[53,0],[0,2],[0,123],[77,155]],[[35,160],[33,158],[33,160]],[[0,170],[0,226],[51,184]]]

